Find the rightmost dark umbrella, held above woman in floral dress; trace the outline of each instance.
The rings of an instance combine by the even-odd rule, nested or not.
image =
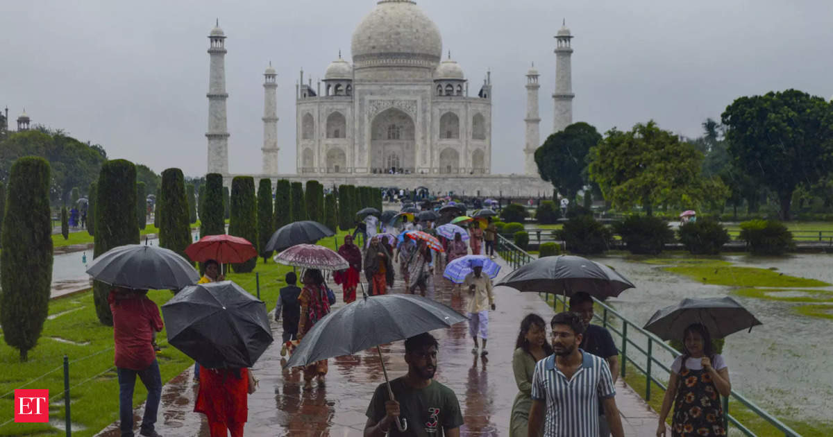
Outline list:
[[[683,299],[651,315],[645,325],[662,340],[682,340],[683,332],[693,323],[701,323],[713,338],[725,338],[739,330],[762,325],[749,310],[731,297]]]

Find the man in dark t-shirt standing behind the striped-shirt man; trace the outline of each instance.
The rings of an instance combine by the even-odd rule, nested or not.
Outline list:
[[[619,350],[613,342],[610,331],[599,325],[591,325],[593,320],[593,298],[579,291],[570,297],[570,310],[581,315],[581,323],[584,324],[584,336],[581,339],[581,350],[590,352],[607,361],[611,368],[613,383],[616,384],[616,377],[619,375]],[[604,409],[599,405],[599,435],[608,437],[611,430],[607,425]]]

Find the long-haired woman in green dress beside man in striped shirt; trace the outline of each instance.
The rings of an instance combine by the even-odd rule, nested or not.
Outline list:
[[[552,346],[546,342],[544,319],[536,314],[526,315],[521,320],[521,331],[518,332],[515,353],[512,355],[512,371],[515,373],[518,395],[515,396],[515,402],[512,404],[512,415],[509,421],[509,435],[511,437],[526,437],[529,408],[532,405],[530,393],[532,390],[532,374],[535,373],[535,363],[549,355],[552,355]],[[541,432],[543,432],[543,426],[541,428]]]

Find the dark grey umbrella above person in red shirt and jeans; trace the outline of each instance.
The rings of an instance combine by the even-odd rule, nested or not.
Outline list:
[[[200,280],[190,262],[159,246],[131,244],[102,253],[87,268],[96,281],[137,290],[178,290]]]

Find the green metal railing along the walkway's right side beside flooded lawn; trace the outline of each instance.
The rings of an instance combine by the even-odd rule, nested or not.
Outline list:
[[[501,257],[506,262],[508,262],[513,269],[516,269],[519,266],[523,266],[526,263],[536,259],[534,256],[531,256],[530,254],[526,253],[526,251],[523,251],[518,246],[512,244],[511,241],[506,240],[506,238],[504,238],[503,236],[498,236],[496,251],[500,253]],[[645,398],[646,401],[651,400],[651,383],[658,385],[662,390],[667,390],[664,380],[661,380],[660,378],[655,376],[656,366],[658,366],[661,370],[664,370],[666,372],[666,375],[671,374],[671,368],[668,365],[666,365],[666,357],[663,357],[663,360],[660,360],[657,358],[656,355],[658,351],[665,351],[667,353],[670,353],[672,358],[676,358],[676,356],[681,355],[680,351],[674,349],[670,345],[666,345],[666,342],[664,340],[661,340],[661,338],[659,338],[658,336],[652,334],[651,332],[648,332],[647,330],[642,329],[640,325],[634,324],[631,320],[628,320],[624,315],[619,314],[616,310],[611,308],[610,305],[607,305],[601,300],[597,300],[596,298],[593,298],[593,300],[596,303],[596,305],[601,306],[602,310],[601,315],[593,315],[594,319],[599,320],[602,326],[604,326],[607,330],[611,330],[611,332],[619,336],[621,345],[621,378],[625,378],[628,368],[628,362],[630,362],[636,370],[639,370],[642,375],[645,375],[645,392],[641,395]],[[552,300],[552,308],[554,310],[556,309],[556,305],[559,302],[561,303],[563,308],[566,308],[567,305],[569,305],[566,300],[566,296],[555,295],[555,298]],[[634,338],[635,335],[641,335],[641,340],[646,340],[646,342],[642,344],[638,343]],[[657,351],[656,348],[658,348],[659,350]],[[633,350],[640,352],[641,355],[636,357],[636,354],[633,352]],[[644,361],[644,364],[641,364],[640,361]],[[745,397],[743,397],[740,393],[737,393],[735,390],[731,390],[731,393],[728,397],[721,396],[723,404],[723,415],[725,420],[724,425],[726,427],[727,433],[729,430],[729,425],[731,424],[737,430],[740,430],[744,435],[748,437],[756,437],[756,434],[754,432],[752,432],[748,427],[746,427],[746,425],[743,425],[740,420],[738,420],[736,417],[732,416],[729,413],[730,398],[746,406],[748,410],[750,410],[752,413],[757,415],[762,420],[765,420],[776,430],[784,433],[786,437],[801,437],[800,434],[798,434],[795,430],[792,430],[789,426],[782,423],[781,420],[776,419],[776,417],[762,410],[761,407],[756,405],[751,400],[747,400]]]

